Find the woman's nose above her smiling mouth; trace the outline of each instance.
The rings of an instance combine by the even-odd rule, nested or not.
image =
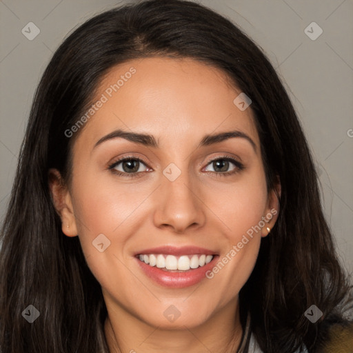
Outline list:
[[[161,176],[162,183],[157,191],[157,208],[154,212],[154,225],[170,228],[178,234],[185,234],[188,228],[202,227],[205,223],[205,209],[196,185],[192,188],[187,172],[174,181]],[[195,183],[195,181],[194,181]]]

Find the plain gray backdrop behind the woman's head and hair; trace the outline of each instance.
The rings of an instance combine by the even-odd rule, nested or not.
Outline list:
[[[52,53],[83,21],[127,2],[0,1],[0,222],[34,90]],[[276,68],[310,143],[339,254],[353,271],[353,0],[198,2],[234,21]],[[305,34],[313,21],[323,30],[315,40]],[[32,41],[21,32],[29,22],[40,30]]]

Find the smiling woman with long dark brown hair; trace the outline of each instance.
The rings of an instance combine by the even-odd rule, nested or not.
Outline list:
[[[19,160],[1,352],[325,352],[352,321],[288,94],[199,4],[83,23],[43,74]]]

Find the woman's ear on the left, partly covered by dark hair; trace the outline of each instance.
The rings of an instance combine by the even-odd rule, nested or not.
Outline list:
[[[77,236],[77,225],[70,192],[63,183],[59,170],[51,168],[48,172],[48,183],[52,201],[61,218],[61,230],[67,236]]]

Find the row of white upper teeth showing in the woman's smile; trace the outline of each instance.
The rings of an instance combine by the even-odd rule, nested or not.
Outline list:
[[[213,259],[213,255],[163,255],[163,254],[140,254],[139,259],[150,266],[157,268],[165,268],[165,270],[188,271],[190,269],[199,268]]]

